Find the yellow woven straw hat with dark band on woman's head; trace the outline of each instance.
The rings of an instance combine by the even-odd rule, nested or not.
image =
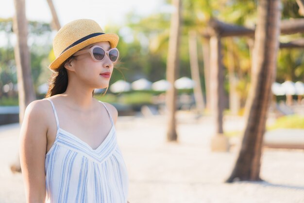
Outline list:
[[[68,57],[80,49],[101,41],[109,41],[111,48],[118,44],[116,34],[105,34],[99,24],[92,19],[77,19],[63,26],[53,40],[53,50],[56,59],[51,62],[49,69],[58,69]]]

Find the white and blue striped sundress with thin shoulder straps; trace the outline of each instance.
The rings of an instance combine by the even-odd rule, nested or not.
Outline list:
[[[47,99],[47,98],[45,98]],[[112,128],[101,145],[93,149],[56,123],[55,142],[46,154],[46,203],[127,203],[128,173]]]

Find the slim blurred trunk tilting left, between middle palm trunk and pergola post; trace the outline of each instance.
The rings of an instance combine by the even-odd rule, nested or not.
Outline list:
[[[203,100],[203,91],[201,86],[199,62],[197,56],[196,32],[190,31],[188,33],[188,37],[189,37],[189,58],[190,58],[191,77],[195,82],[194,98],[196,103],[196,109],[198,113],[203,114],[205,104]]]

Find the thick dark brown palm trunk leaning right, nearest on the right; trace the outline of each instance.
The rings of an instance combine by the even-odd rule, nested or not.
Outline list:
[[[247,125],[236,165],[227,182],[261,180],[262,144],[279,48],[280,0],[259,0],[257,17],[252,84],[245,112]]]

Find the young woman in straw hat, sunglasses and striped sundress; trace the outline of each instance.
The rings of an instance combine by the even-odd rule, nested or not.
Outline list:
[[[20,131],[27,203],[127,203],[118,111],[93,98],[109,86],[118,39],[91,19],[69,22],[54,37],[49,91],[27,106]]]

